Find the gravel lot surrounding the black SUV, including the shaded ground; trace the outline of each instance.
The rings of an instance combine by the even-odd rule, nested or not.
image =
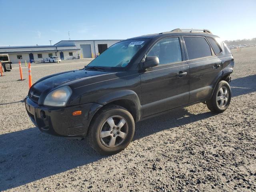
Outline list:
[[[0,77],[0,190],[256,191],[256,48],[233,54],[228,110],[196,104],[138,122],[134,141],[113,156],[34,127],[23,102],[27,68],[17,81],[14,65]],[[33,82],[86,63],[33,64]]]

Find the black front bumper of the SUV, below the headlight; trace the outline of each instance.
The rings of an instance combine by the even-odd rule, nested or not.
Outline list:
[[[101,107],[97,103],[64,108],[39,106],[29,97],[25,98],[25,106],[28,116],[40,131],[69,137],[85,137],[92,116]],[[78,110],[82,111],[82,114],[73,116],[72,113]]]

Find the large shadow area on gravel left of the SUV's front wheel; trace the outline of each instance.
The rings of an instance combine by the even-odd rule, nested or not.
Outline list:
[[[86,140],[46,135],[38,128],[0,135],[0,191],[95,162]]]

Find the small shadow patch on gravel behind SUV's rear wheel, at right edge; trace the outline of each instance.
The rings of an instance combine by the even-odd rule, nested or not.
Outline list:
[[[256,75],[234,79],[230,83],[232,97],[256,92]]]

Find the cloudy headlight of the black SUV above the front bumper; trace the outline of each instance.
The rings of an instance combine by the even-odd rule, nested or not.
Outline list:
[[[72,94],[72,90],[69,86],[64,86],[50,92],[45,100],[44,105],[47,106],[65,106],[68,99]]]

